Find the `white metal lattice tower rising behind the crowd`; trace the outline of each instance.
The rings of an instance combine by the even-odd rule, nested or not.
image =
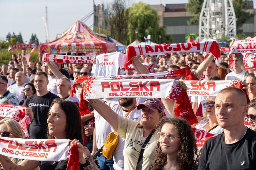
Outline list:
[[[236,26],[232,0],[204,0],[199,16],[199,41],[203,38],[235,37]]]

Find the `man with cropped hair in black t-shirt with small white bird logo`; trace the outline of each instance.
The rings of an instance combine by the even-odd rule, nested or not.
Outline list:
[[[256,169],[256,132],[244,125],[246,95],[236,87],[222,89],[215,99],[221,134],[205,142],[198,169]]]

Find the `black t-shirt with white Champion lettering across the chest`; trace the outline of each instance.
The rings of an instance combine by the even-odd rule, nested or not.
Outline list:
[[[31,107],[33,110],[33,120],[29,126],[30,139],[45,139],[47,131],[48,111],[53,99],[59,98],[51,92],[44,96],[34,94],[29,96],[25,101],[25,106]]]

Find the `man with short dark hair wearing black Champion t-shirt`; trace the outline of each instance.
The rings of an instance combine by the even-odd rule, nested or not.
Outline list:
[[[45,72],[37,72],[34,79],[34,85],[37,93],[29,96],[25,101],[25,106],[33,110],[33,120],[31,121],[30,139],[45,139],[48,128],[47,118],[51,102],[57,95],[47,91],[48,77]]]

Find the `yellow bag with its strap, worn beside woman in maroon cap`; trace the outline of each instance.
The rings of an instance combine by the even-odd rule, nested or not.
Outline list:
[[[130,112],[137,107],[134,105],[129,112],[125,115],[125,118],[130,114]],[[104,143],[104,146],[102,147],[102,154],[109,160],[112,157],[112,154],[116,150],[116,146],[118,144],[118,135],[116,135],[114,132],[110,132],[107,135],[107,139]]]

